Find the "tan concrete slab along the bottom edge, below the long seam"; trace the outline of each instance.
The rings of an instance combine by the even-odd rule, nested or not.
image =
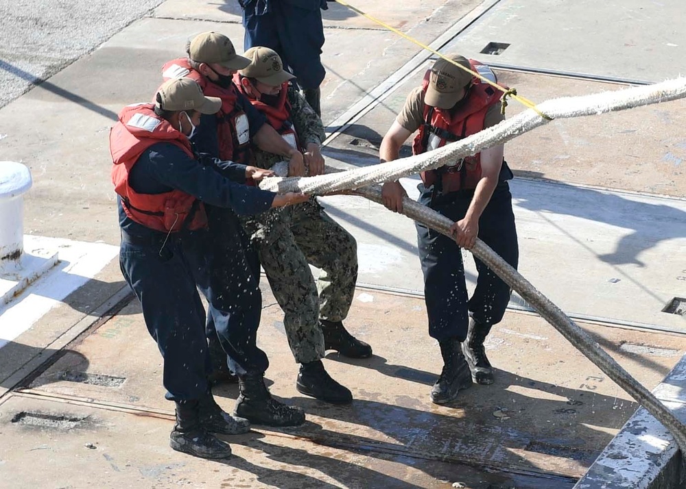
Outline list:
[[[470,466],[331,447],[276,431],[222,437],[233,456],[206,461],[168,449],[168,417],[21,395],[0,404],[0,414],[0,433],[12,438],[0,447],[3,472],[11,471],[0,481],[3,488],[409,489],[450,487],[456,481],[475,489],[506,489],[519,481],[528,484],[521,487],[542,489],[550,481],[571,487],[564,480],[558,485],[556,478],[484,475]]]

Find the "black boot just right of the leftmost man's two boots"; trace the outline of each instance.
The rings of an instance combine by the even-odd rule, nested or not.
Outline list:
[[[241,394],[236,399],[233,414],[256,425],[298,426],[305,423],[303,410],[280,403],[272,397],[264,385],[263,376],[261,372],[248,372],[238,376]]]

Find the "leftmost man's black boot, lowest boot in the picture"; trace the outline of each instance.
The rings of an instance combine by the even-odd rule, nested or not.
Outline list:
[[[176,403],[176,425],[169,435],[169,447],[202,458],[230,457],[228,444],[217,440],[200,425],[199,414],[198,401]]]

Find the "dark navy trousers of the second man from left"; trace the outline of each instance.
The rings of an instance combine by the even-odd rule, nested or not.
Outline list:
[[[264,372],[269,362],[256,346],[262,312],[257,251],[232,210],[205,208],[213,241],[206,263],[210,283],[203,292],[209,301],[206,336],[217,335],[233,373]]]

